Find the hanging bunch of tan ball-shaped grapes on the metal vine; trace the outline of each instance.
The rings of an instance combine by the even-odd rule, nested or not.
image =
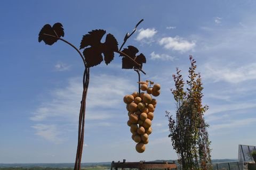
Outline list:
[[[145,92],[133,92],[131,95],[124,96],[124,103],[128,111],[132,140],[137,143],[135,149],[142,153],[145,151],[149,142],[149,135],[152,133],[151,121],[154,118],[154,111],[157,100],[153,96],[160,95],[160,84],[154,84],[152,81],[139,81],[140,90]],[[154,84],[154,85],[153,85]]]

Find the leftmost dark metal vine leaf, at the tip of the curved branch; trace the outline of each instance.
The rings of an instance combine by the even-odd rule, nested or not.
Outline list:
[[[54,38],[46,35],[51,35],[59,38],[64,37],[64,29],[62,27],[63,27],[62,24],[59,22],[55,23],[53,27],[50,24],[45,24],[38,35],[39,43],[42,40],[47,45],[53,45],[54,43],[56,43],[58,41],[58,38]]]

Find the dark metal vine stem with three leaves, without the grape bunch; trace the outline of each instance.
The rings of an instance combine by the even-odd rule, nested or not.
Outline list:
[[[143,21],[140,20],[135,28],[133,29],[131,35],[137,30],[138,25]],[[79,56],[82,58],[84,64],[83,73],[83,95],[81,101],[81,107],[79,112],[79,123],[78,123],[78,142],[77,142],[77,152],[74,170],[81,169],[81,160],[83,152],[84,143],[84,122],[85,122],[85,107],[86,107],[86,96],[89,87],[90,80],[90,67],[100,64],[102,61],[108,65],[114,59],[114,53],[118,53],[122,56],[123,69],[134,69],[140,80],[140,73],[146,74],[142,70],[142,63],[146,63],[146,57],[143,54],[136,55],[139,50],[133,46],[128,46],[121,51],[127,39],[131,37],[129,33],[126,33],[124,42],[121,48],[118,50],[118,43],[116,38],[110,33],[107,34],[105,43],[101,43],[102,37],[106,34],[105,30],[98,29],[92,30],[83,36],[81,40],[80,50],[83,49],[83,54],[78,48],[73,44],[69,43],[67,40],[61,38],[64,37],[64,29],[61,23],[55,23],[53,26],[50,24],[45,24],[38,35],[38,41],[44,41],[47,45],[53,45],[58,40],[61,40],[71,47],[73,47]],[[103,56],[102,56],[103,54]],[[139,86],[140,91],[140,86]]]

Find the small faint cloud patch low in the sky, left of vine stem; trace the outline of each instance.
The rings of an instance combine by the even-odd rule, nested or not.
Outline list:
[[[32,126],[36,130],[36,135],[54,143],[60,143],[62,140],[58,137],[60,134],[54,124],[35,124]]]

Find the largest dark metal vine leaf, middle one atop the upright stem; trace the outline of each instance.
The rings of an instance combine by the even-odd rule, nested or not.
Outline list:
[[[108,33],[105,43],[101,43],[102,37],[105,35],[105,30],[92,30],[83,36],[80,49],[85,48],[83,55],[87,67],[92,67],[104,61],[108,65],[114,59],[114,52],[118,51],[118,43],[116,38]]]

